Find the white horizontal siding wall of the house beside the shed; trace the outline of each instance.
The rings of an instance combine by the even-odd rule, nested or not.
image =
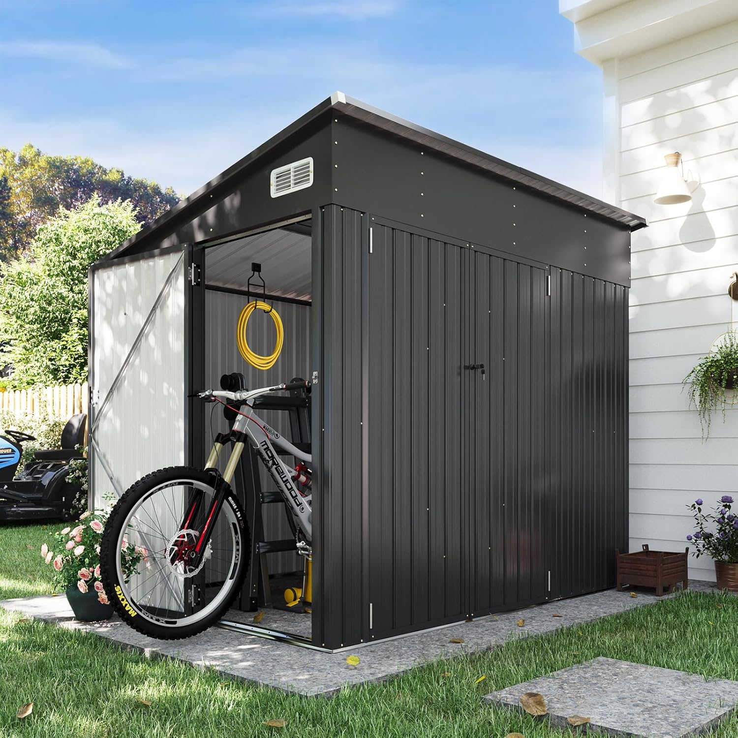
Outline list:
[[[738,22],[618,61],[620,200],[649,227],[632,237],[630,549],[680,551],[686,506],[734,492],[738,407],[702,440],[682,381],[729,325],[738,267]],[[663,156],[681,151],[700,187],[692,201],[653,198]],[[690,576],[714,579],[710,559]]]

